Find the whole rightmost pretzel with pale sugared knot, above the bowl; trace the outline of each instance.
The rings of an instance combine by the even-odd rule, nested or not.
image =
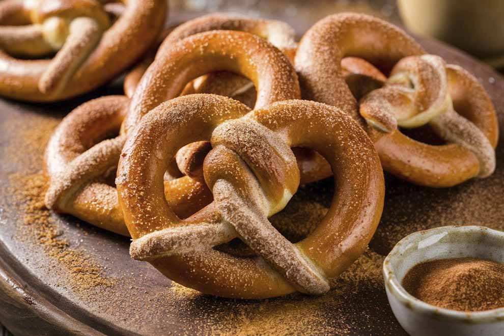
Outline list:
[[[372,46],[369,45],[370,41],[373,41]],[[405,95],[400,95],[401,99],[393,98],[393,92],[398,92],[394,89],[400,84],[397,82],[398,78],[404,76],[410,80],[402,83],[402,90],[407,91],[406,87],[411,83],[413,86],[418,85],[414,69],[410,71],[401,68],[409,62],[408,59],[401,60],[423,54],[423,48],[397,27],[371,16],[344,13],[328,16],[306,32],[298,45],[295,67],[304,98],[329,105],[347,105],[349,110],[355,111],[352,117],[365,127],[375,142],[384,169],[391,174],[431,187],[449,187],[473,177],[488,176],[493,172],[495,164],[493,148],[496,146],[498,128],[494,107],[477,80],[451,65],[446,66],[446,74],[443,74],[439,65],[439,71],[436,72],[431,67],[429,72],[437,76],[437,79],[431,81],[431,78],[425,78],[423,86],[417,87],[418,90],[412,93],[414,99],[405,98]],[[364,119],[359,116],[357,101],[349,87],[344,85],[341,61],[347,55],[365,59],[384,71],[399,62],[395,71],[401,74],[393,75],[387,80],[390,88],[373,91],[361,101],[362,105],[367,106],[361,105],[360,114],[372,125],[366,125]],[[450,79],[443,79],[443,76]],[[442,93],[437,90],[441,88],[440,83],[443,80],[445,84]],[[449,85],[446,80],[449,80]],[[427,89],[431,96],[422,97],[426,94],[423,90]],[[388,99],[380,94],[383,92],[389,92]],[[475,94],[475,97],[466,97],[465,103],[462,103],[464,106],[470,105],[464,107],[470,110],[464,113],[472,123],[451,108],[452,93],[461,101],[460,92],[471,92],[467,96]],[[435,93],[441,100],[433,100]],[[370,102],[371,97],[374,97],[373,102]],[[396,106],[394,111],[383,113],[391,108],[389,103]],[[433,106],[427,106],[429,103]],[[370,110],[372,105],[374,110]],[[409,117],[417,115],[409,124],[404,120],[396,120],[403,118],[398,115],[399,111],[406,113],[406,110],[410,113]],[[381,119],[375,118],[377,114],[380,114]],[[423,121],[415,122],[420,119]],[[449,144],[431,146],[415,141],[395,126],[396,121],[401,127],[418,127],[428,123]]]

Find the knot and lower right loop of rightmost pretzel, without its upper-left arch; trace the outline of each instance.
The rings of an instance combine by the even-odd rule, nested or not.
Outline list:
[[[451,92],[465,101],[474,122],[455,111]],[[399,61],[385,86],[361,100],[360,114],[380,130],[372,138],[385,169],[404,179],[416,177],[418,164],[430,167],[421,172],[423,184],[435,186],[487,177],[495,170],[498,128],[490,99],[477,79],[435,55]],[[426,124],[448,144],[426,145],[398,130]]]

